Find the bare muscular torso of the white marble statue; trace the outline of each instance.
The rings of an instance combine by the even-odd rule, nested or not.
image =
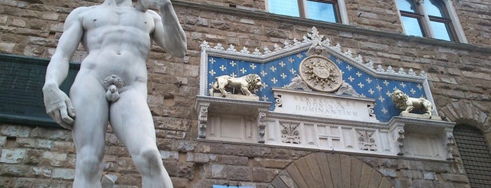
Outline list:
[[[116,74],[127,86],[146,83],[146,61],[155,22],[150,13],[133,7],[93,6],[79,15],[84,29],[82,43],[89,53],[79,76],[90,74],[100,81]]]

